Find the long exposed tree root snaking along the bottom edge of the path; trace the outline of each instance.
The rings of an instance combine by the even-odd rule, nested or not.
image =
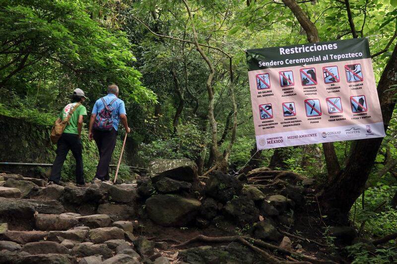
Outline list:
[[[247,240],[251,241],[253,244],[251,244],[250,242],[248,242]],[[253,251],[255,251],[256,253],[258,253],[259,255],[261,255],[262,257],[264,257],[266,259],[266,261],[269,261],[269,263],[272,264],[337,264],[335,262],[332,261],[321,261],[321,260],[317,260],[315,258],[309,257],[309,256],[305,256],[299,253],[294,253],[294,252],[290,252],[288,250],[285,250],[283,248],[271,245],[269,243],[266,243],[262,240],[258,240],[258,239],[254,239],[251,237],[247,237],[247,236],[225,236],[225,237],[208,237],[208,236],[204,236],[204,235],[198,235],[186,242],[180,243],[178,245],[172,245],[171,247],[173,248],[180,248],[180,247],[184,247],[190,243],[193,242],[208,242],[208,243],[229,243],[229,242],[239,242],[247,247],[249,247],[250,249],[252,249]],[[256,246],[260,246],[269,250],[276,250],[279,253],[285,254],[287,256],[299,256],[299,258],[304,259],[306,261],[303,262],[291,262],[291,261],[280,261],[277,258],[271,256],[270,254],[268,254],[267,252],[265,252],[264,250],[256,247]]]

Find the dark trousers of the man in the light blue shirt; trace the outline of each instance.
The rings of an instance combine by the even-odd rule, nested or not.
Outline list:
[[[99,162],[95,177],[101,180],[109,180],[109,163],[116,146],[117,131],[93,130],[94,140],[99,151]]]

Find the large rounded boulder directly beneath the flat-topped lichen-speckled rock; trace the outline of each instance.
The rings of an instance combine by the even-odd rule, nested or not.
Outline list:
[[[192,221],[199,209],[199,200],[178,195],[154,195],[146,200],[149,218],[162,226],[186,226]]]

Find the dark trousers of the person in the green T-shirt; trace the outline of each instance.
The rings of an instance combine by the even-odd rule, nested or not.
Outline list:
[[[71,150],[73,157],[76,159],[76,183],[84,184],[83,176],[83,155],[81,140],[77,134],[62,134],[58,141],[57,158],[55,158],[53,168],[51,170],[50,181],[59,183],[61,180],[61,170],[64,165],[66,155]]]

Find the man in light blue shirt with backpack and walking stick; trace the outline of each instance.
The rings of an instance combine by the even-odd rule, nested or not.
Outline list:
[[[117,129],[119,127],[120,120],[127,133],[131,132],[127,123],[126,107],[123,100],[119,99],[118,96],[119,87],[115,84],[109,85],[108,95],[95,102],[91,113],[88,138],[89,140],[94,139],[98,147],[99,162],[95,178],[102,181],[109,180],[109,163],[116,146]],[[111,130],[99,130],[94,127],[97,114],[105,108],[103,101],[105,101],[107,106],[111,106],[111,108],[113,108],[113,128],[111,128]]]

